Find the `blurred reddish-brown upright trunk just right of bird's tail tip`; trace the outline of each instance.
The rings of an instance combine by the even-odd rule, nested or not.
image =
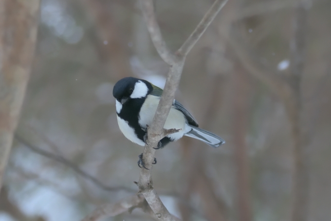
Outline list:
[[[251,197],[249,163],[247,156],[246,135],[249,124],[250,85],[249,78],[239,62],[235,64],[233,104],[233,142],[235,146],[235,162],[237,165],[237,206],[239,221],[251,221]]]

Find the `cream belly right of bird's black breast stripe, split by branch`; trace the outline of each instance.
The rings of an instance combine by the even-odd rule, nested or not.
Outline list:
[[[139,116],[139,124],[142,127],[146,127],[146,125],[151,125],[157,106],[159,104],[160,98],[148,95],[145,100],[143,106],[141,107]],[[171,107],[169,115],[165,121],[165,129],[181,129],[179,132],[171,134],[169,137],[172,141],[176,141],[184,136],[187,132],[191,130],[191,128],[186,124],[185,117],[182,112],[176,110]]]

